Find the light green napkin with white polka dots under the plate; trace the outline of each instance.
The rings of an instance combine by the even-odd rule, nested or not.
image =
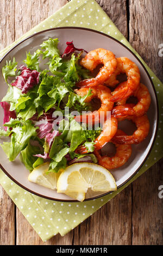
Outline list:
[[[1,51],[0,57],[4,56],[4,54],[7,53],[12,46],[27,36],[42,31],[43,29],[62,26],[80,26],[96,29],[97,31],[101,31],[105,34],[113,36],[130,48],[130,50],[133,51],[141,60],[143,65],[146,66],[146,69],[153,80],[156,93],[158,94],[160,120],[158,135],[146,163],[139,170],[139,172],[127,182],[127,184],[123,185],[117,191],[102,198],[83,203],[62,203],[43,199],[27,192],[26,190],[23,190],[23,188],[16,185],[8,178],[7,175],[2,172],[2,170],[0,170],[1,185],[4,187],[5,191],[7,191],[17,207],[21,210],[22,214],[27,218],[37,234],[40,235],[43,241],[50,239],[57,233],[64,236],[66,233],[68,233],[68,231],[72,230],[87,217],[92,215],[93,212],[101,208],[101,206],[103,206],[111,198],[115,197],[116,194],[120,193],[142,173],[146,172],[149,167],[151,167],[163,156],[163,135],[161,134],[161,129],[163,129],[161,120],[163,117],[163,84],[148,68],[146,63],[143,62],[139,54],[135,52],[135,50],[130,46],[129,42],[124,38],[120,31],[118,31],[114,23],[112,23],[109,17],[94,0],[72,0],[71,2],[67,3],[51,17],[41,22],[16,42]]]

